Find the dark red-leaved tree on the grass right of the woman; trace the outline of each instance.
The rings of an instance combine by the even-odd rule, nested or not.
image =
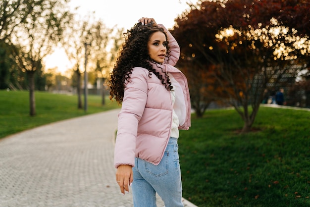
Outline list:
[[[293,1],[307,16],[309,3]],[[171,31],[181,47],[178,67],[186,74],[202,71],[189,76],[189,82],[201,81],[210,90],[205,100],[216,98],[234,106],[244,120],[242,133],[251,130],[264,90],[284,77],[286,83],[293,82],[307,67],[310,52],[309,29],[304,28],[309,28],[309,20],[285,18],[292,9],[282,0],[261,4],[262,0],[202,1],[177,18]],[[190,91],[194,101],[201,96],[191,84]]]

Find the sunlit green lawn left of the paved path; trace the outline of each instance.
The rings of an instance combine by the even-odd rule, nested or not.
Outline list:
[[[101,96],[88,96],[88,110],[77,108],[77,96],[35,92],[36,116],[29,115],[29,92],[0,91],[0,138],[47,123],[120,107]],[[84,98],[82,97],[82,102]]]

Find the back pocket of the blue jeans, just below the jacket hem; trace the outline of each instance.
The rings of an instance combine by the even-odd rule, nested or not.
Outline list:
[[[168,155],[169,151],[165,151],[158,165],[154,165],[148,161],[144,161],[146,172],[154,175],[155,177],[160,177],[168,174]]]

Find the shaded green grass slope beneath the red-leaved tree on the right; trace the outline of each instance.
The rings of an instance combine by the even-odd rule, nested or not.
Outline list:
[[[246,135],[234,110],[207,111],[182,131],[183,196],[199,207],[309,207],[310,111],[259,109]]]

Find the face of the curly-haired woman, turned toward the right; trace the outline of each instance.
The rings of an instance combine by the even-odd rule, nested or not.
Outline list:
[[[148,50],[151,59],[155,62],[163,63],[167,52],[166,36],[162,32],[155,32],[151,35],[148,42]]]

